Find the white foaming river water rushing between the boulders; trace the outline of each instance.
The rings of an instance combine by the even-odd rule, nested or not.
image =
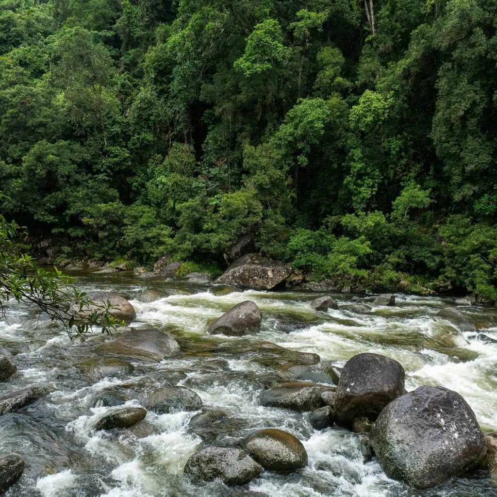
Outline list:
[[[496,309],[461,307],[479,332],[462,333],[435,314],[454,306],[451,299],[397,295],[394,307],[371,314],[346,310],[316,312],[309,303],[317,294],[245,291],[216,296],[209,287],[181,280],[146,281],[132,274],[76,272],[86,291],[111,290],[129,296],[137,311],[132,327],[154,327],[171,333],[181,353],[160,363],[133,362],[133,372],[91,378],[75,364],[101,357],[95,345],[108,340],[93,334],[71,341],[64,331],[35,310],[12,304],[0,322],[0,347],[11,354],[18,371],[1,383],[1,396],[20,388],[42,386],[48,395],[23,409],[0,416],[0,456],[18,454],[26,461],[19,484],[9,497],[193,497],[242,496],[221,484],[191,486],[182,476],[188,457],[203,443],[236,446],[255,429],[279,427],[302,440],[309,466],[288,475],[265,472],[248,489],[271,497],[477,497],[497,496],[497,482],[477,470],[429,491],[415,491],[389,480],[377,462],[363,463],[360,436],[340,428],[315,431],[307,414],[261,407],[264,387],[286,379],[264,360],[257,343],[318,353],[337,367],[361,352],[397,359],[406,370],[406,388],[441,385],[459,392],[474,410],[483,430],[497,430]],[[147,289],[163,292],[151,303],[135,300]],[[210,336],[206,323],[235,304],[254,301],[262,311],[259,335]],[[337,295],[339,304],[351,296]],[[307,323],[285,333],[280,324]],[[242,340],[242,341],[241,341]],[[243,341],[245,340],[245,341]],[[212,352],[209,343],[226,343]],[[230,347],[234,343],[235,347]],[[240,344],[250,343],[247,350]],[[154,414],[119,433],[95,432],[95,421],[115,408],[99,407],[103,392],[122,394],[126,406],[139,406],[144,392],[164,384],[191,388],[204,406],[230,415],[219,427],[195,432],[188,423],[195,413]]]

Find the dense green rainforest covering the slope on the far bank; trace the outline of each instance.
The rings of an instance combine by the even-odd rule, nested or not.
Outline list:
[[[495,0],[2,0],[0,210],[59,261],[252,234],[495,301],[496,27]]]

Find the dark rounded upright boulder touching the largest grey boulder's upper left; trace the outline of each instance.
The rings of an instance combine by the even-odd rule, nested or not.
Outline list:
[[[335,421],[350,427],[354,418],[374,421],[381,410],[405,393],[404,368],[378,354],[358,354],[343,367],[336,388]]]

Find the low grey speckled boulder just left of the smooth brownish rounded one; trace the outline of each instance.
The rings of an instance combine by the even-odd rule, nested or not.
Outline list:
[[[207,447],[186,461],[184,473],[195,484],[219,479],[232,486],[245,485],[262,473],[262,467],[243,450]]]

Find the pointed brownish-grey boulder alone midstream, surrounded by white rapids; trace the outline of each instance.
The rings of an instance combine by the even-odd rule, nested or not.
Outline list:
[[[207,329],[209,334],[242,336],[260,331],[262,317],[260,309],[253,302],[246,300],[225,312]]]

